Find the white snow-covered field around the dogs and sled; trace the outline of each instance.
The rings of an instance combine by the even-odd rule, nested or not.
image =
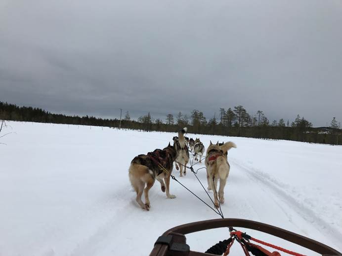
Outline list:
[[[0,145],[0,256],[148,255],[167,229],[218,218],[172,180],[175,199],[167,199],[156,182],[150,190],[149,212],[135,202],[128,181],[131,159],[167,146],[176,134],[7,124],[5,132],[13,133],[0,139],[6,144]],[[269,223],[342,251],[341,146],[197,137],[205,146],[210,140],[238,146],[228,152],[231,172],[222,205],[226,218]],[[181,178],[175,169],[173,174],[210,202],[191,172]],[[198,176],[207,186],[205,169]],[[266,234],[248,233],[316,255]],[[227,237],[222,228],[187,235],[187,243],[204,252]],[[233,246],[234,253],[243,255],[238,245]]]

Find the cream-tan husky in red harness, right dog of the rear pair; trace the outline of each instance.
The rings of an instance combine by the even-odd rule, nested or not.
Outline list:
[[[212,144],[212,142],[210,142],[210,145],[207,149],[205,164],[207,167],[208,190],[214,190],[214,205],[216,208],[219,207],[216,194],[218,179],[220,180],[220,185],[218,189],[218,199],[221,204],[224,203],[223,190],[230,169],[226,153],[232,147],[236,147],[236,145],[233,142],[226,142],[222,146],[219,146],[218,142],[216,144]]]

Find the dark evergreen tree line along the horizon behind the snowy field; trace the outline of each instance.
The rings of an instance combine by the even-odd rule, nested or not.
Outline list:
[[[54,114],[40,108],[18,107],[0,102],[0,119],[42,123],[77,124],[92,126],[122,127],[144,131],[175,132],[180,127],[188,126],[191,133],[223,136],[241,136],[260,139],[291,140],[309,143],[342,145],[341,124],[333,117],[330,127],[312,127],[312,123],[297,115],[294,121],[280,118],[269,121],[262,110],[254,114],[241,105],[219,109],[219,114],[208,119],[200,110],[192,110],[190,115],[169,113],[165,120],[154,119],[150,112],[137,120],[130,118],[127,111],[122,120],[106,119],[94,116]]]

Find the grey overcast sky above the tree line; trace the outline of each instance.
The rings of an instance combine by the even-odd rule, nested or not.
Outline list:
[[[0,101],[342,122],[342,1],[0,0]]]

